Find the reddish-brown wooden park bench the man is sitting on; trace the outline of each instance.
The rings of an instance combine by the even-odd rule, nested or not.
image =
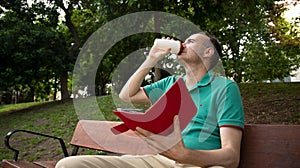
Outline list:
[[[153,151],[132,131],[113,135],[110,128],[119,122],[81,120],[78,122],[70,144],[74,146],[70,155],[77,155],[79,148],[89,148],[119,154],[144,154]],[[12,167],[54,167],[57,161],[27,162],[17,160],[17,150],[9,145],[14,132],[8,133],[6,145],[15,151],[14,160],[3,160],[4,168]],[[42,136],[44,136],[42,134]],[[47,136],[47,135],[46,135]],[[126,137],[126,138],[124,138]],[[61,138],[56,138],[65,156],[69,154]],[[138,148],[137,148],[138,146]],[[300,167],[300,125],[247,124],[242,140],[241,168],[299,168]]]

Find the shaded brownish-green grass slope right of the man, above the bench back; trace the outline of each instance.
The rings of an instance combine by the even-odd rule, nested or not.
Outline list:
[[[300,83],[252,83],[239,86],[247,123],[300,124]]]

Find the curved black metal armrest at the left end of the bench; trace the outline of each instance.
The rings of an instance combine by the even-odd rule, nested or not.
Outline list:
[[[51,139],[55,139],[55,140],[58,140],[60,145],[61,145],[61,148],[63,150],[63,153],[64,153],[64,156],[67,157],[69,156],[68,154],[68,151],[67,151],[67,148],[66,148],[66,145],[65,145],[65,142],[63,141],[62,138],[59,138],[59,137],[55,137],[55,136],[51,136],[51,135],[47,135],[47,134],[41,134],[41,133],[37,133],[37,132],[33,132],[33,131],[28,131],[28,130],[13,130],[13,131],[10,131],[6,134],[5,138],[4,138],[4,143],[5,143],[5,146],[14,151],[14,160],[17,161],[18,160],[18,156],[19,156],[19,150],[11,147],[10,143],[9,143],[9,140],[11,138],[11,136],[17,132],[25,132],[25,133],[28,133],[28,134],[33,134],[33,135],[38,135],[38,136],[43,136],[43,137],[47,137],[47,138],[51,138]]]

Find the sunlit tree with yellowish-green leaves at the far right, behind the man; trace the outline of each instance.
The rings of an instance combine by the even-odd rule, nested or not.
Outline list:
[[[275,4],[267,13],[262,33],[255,36],[258,40],[245,45],[245,81],[283,80],[299,68],[299,29],[297,23],[283,18],[285,10],[285,3]]]

